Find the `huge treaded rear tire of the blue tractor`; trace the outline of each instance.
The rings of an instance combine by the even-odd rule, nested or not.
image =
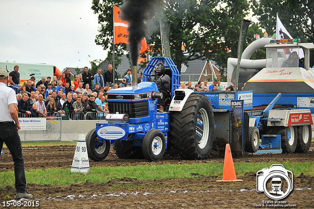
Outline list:
[[[171,113],[174,150],[184,159],[206,159],[213,142],[213,117],[208,97],[191,94],[181,112]]]

